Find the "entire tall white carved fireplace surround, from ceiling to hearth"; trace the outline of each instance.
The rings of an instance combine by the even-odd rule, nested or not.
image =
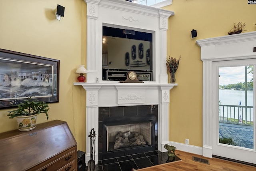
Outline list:
[[[159,151],[169,143],[170,89],[166,70],[168,18],[174,12],[125,0],[85,0],[87,4],[86,83],[74,83],[86,90],[86,161],[90,160],[89,132],[99,131],[100,107],[158,106]],[[102,79],[102,27],[126,28],[152,33],[152,81],[143,84],[118,83]],[[79,64],[78,64],[79,65]],[[98,80],[98,81],[96,81]],[[99,139],[100,141],[100,139]],[[95,162],[99,144],[95,144]],[[147,140],[148,141],[148,140]]]

